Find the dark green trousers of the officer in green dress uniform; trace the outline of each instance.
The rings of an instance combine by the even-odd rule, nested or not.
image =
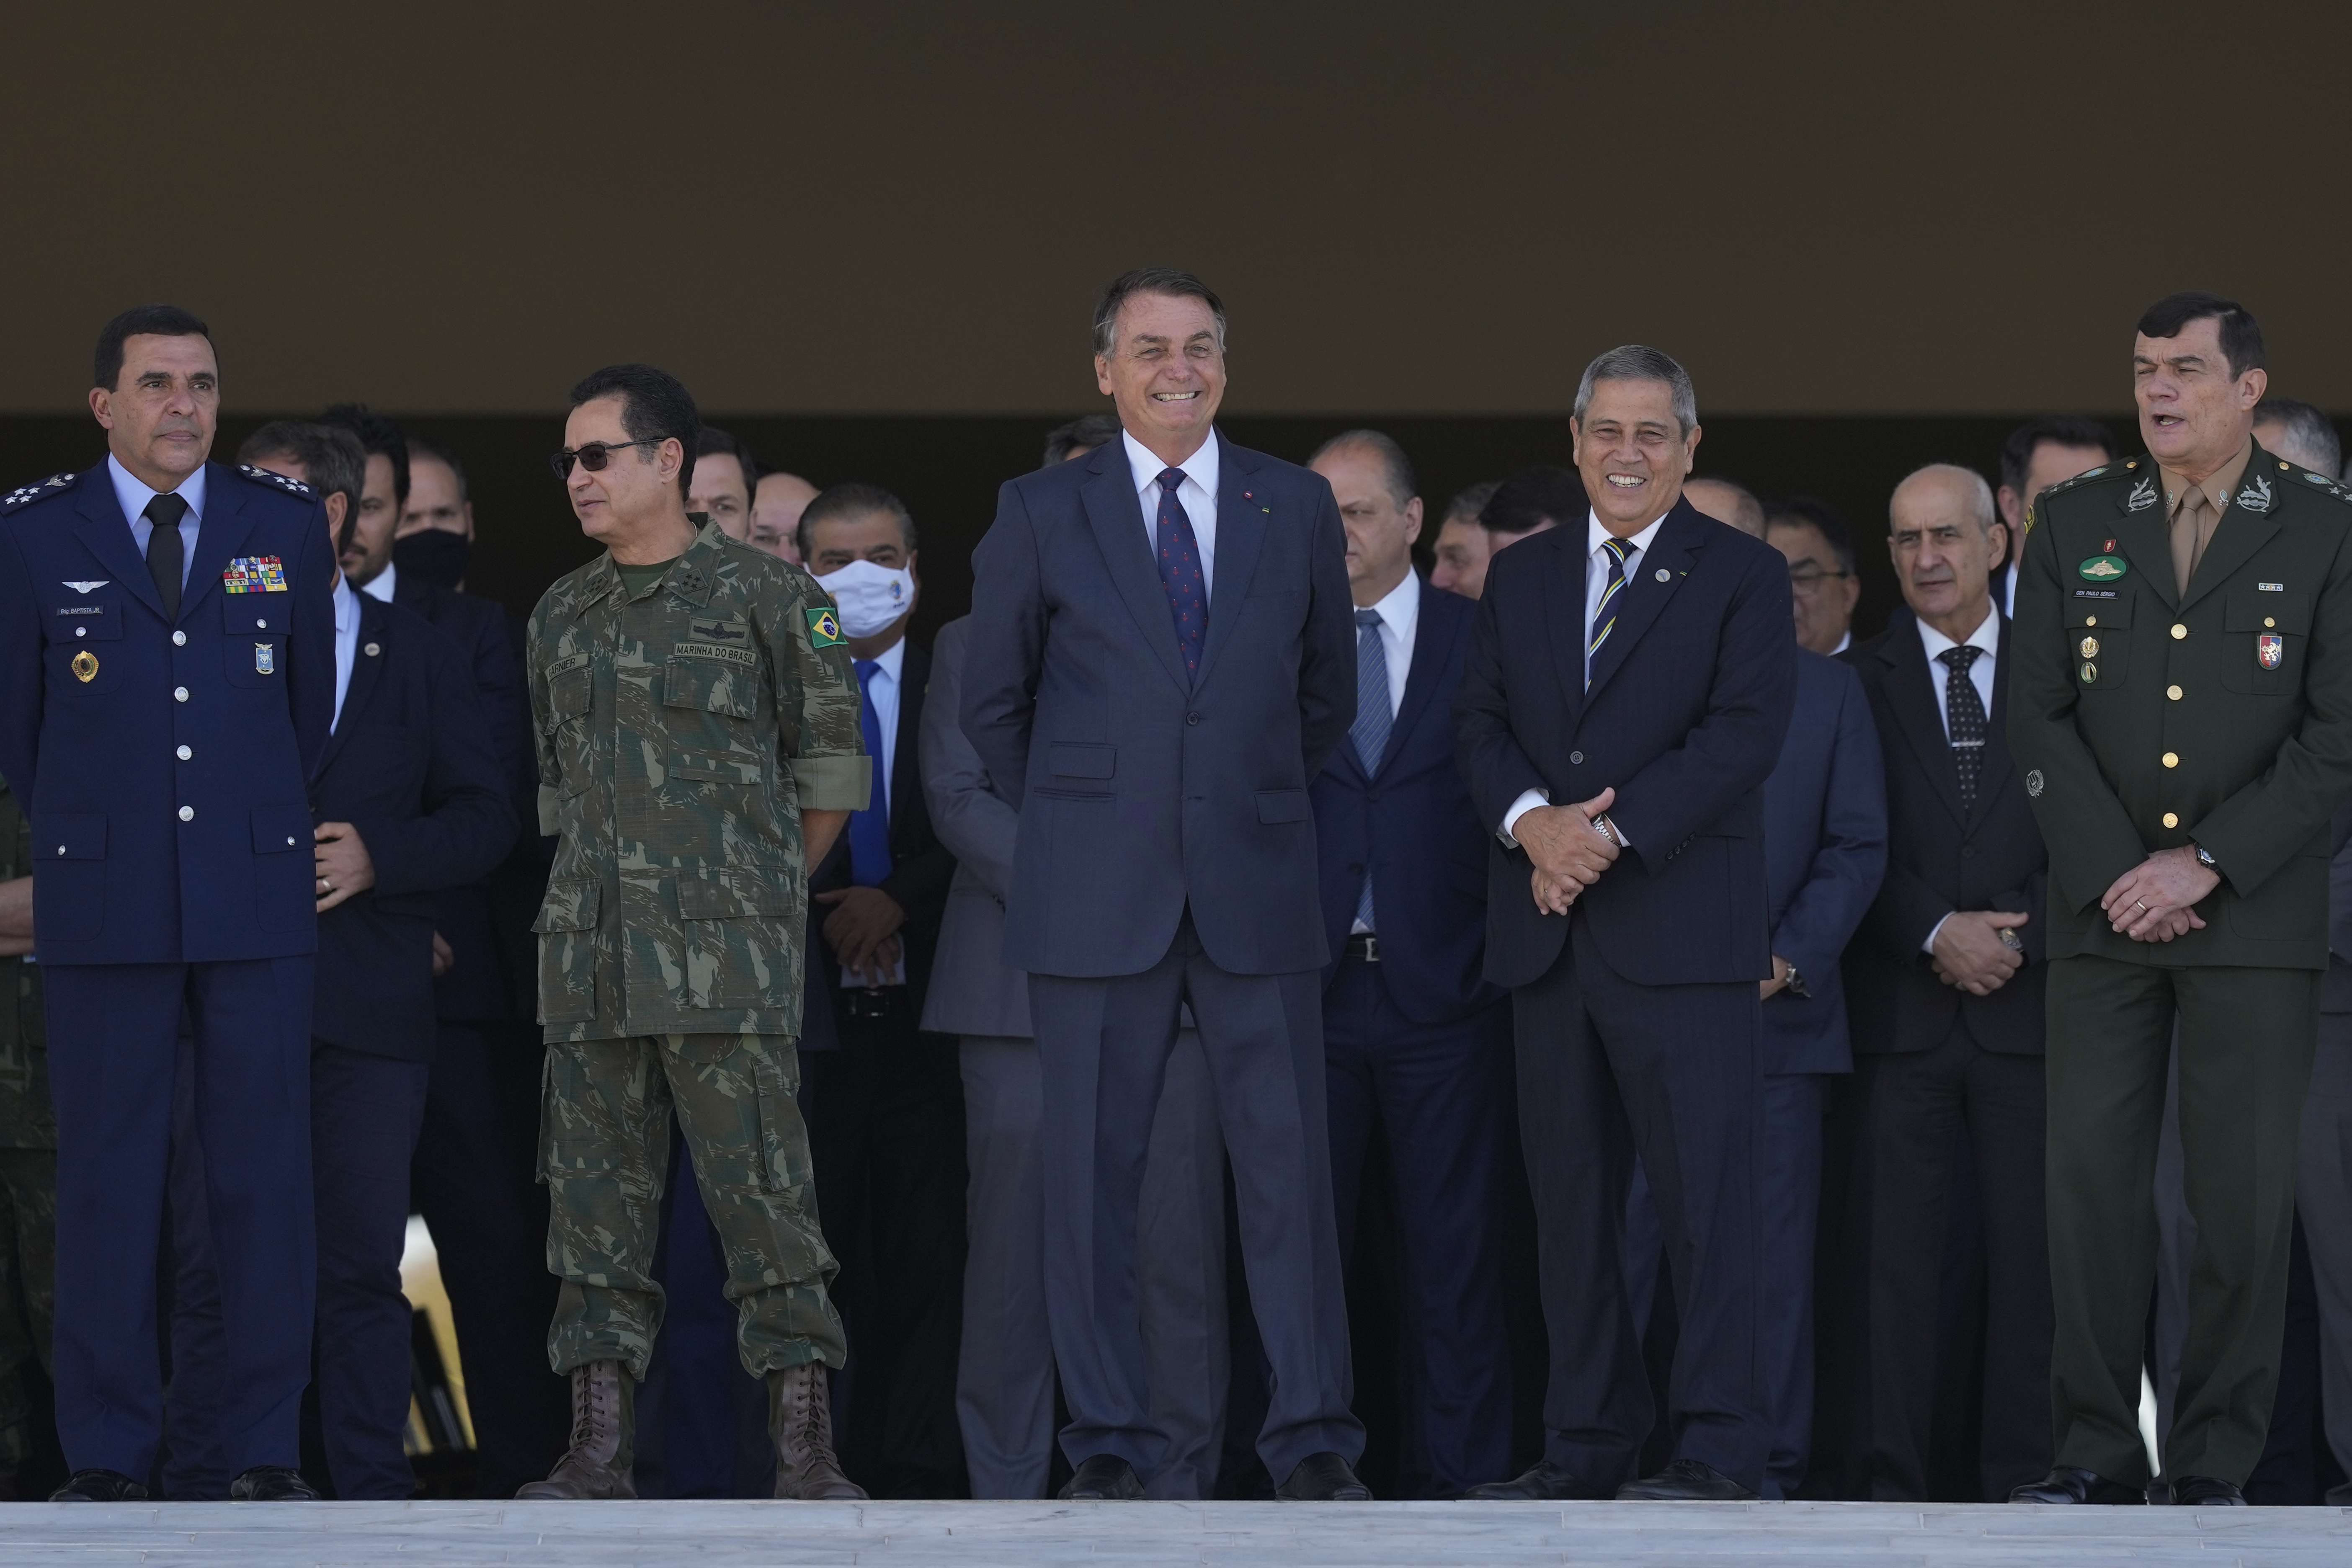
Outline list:
[[[2110,1481],[2147,1481],[2140,1359],[2157,1279],[2152,1190],[2176,1011],[2197,1253],[2164,1469],[2244,1486],[2279,1389],[2296,1128],[2319,1041],[2317,969],[2051,961],[2056,1460]]]

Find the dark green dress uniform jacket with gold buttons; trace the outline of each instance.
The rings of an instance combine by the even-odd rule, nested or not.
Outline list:
[[[2138,456],[2027,512],[2009,745],[2051,853],[2051,957],[2326,969],[2328,816],[2352,795],[2352,498],[2253,449],[2187,592]],[[2201,844],[2204,931],[2133,943],[2098,900]]]

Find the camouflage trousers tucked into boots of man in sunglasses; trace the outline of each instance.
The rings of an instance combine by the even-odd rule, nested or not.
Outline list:
[[[743,1371],[760,1378],[807,1361],[842,1363],[842,1319],[826,1298],[840,1265],[816,1222],[797,1088],[800,1051],[786,1037],[548,1046],[539,1143],[548,1269],[562,1281],[548,1328],[557,1373],[628,1361],[630,1375],[644,1378],[661,1333],[654,1241],[673,1107],[727,1248]]]

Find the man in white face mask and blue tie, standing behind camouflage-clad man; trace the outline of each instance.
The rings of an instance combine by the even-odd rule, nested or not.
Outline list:
[[[929,651],[906,637],[915,520],[884,489],[835,484],[797,534],[840,611],[875,759],[868,809],[809,875],[800,1041],[816,1206],[840,1239],[833,1293],[858,1345],[837,1432],[877,1497],[948,1497],[964,1467],[964,1079],[957,1039],[920,1027],[955,856],[931,830],[915,741],[931,679]]]

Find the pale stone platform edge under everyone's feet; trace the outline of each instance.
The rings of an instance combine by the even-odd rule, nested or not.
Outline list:
[[[165,1502],[0,1505],[0,1563],[2352,1566],[2352,1509],[1884,1502]]]

